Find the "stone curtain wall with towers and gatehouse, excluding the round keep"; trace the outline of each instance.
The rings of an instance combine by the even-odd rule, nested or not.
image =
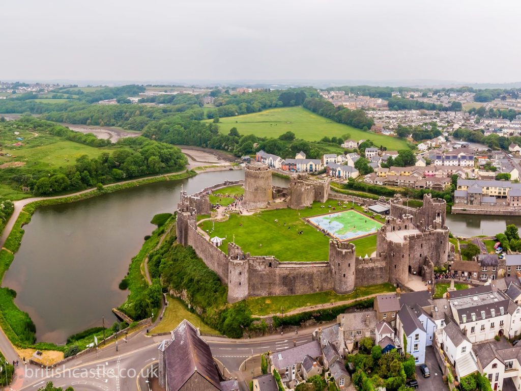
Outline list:
[[[307,189],[306,192],[316,196],[314,191]],[[204,194],[200,196],[207,198]],[[330,240],[328,262],[279,262],[273,256],[244,253],[233,243],[229,243],[226,255],[197,231],[197,208],[204,205],[204,201],[182,200],[178,206],[178,241],[192,246],[228,285],[229,302],[251,296],[302,295],[326,290],[345,294],[358,286],[384,282],[404,285],[412,272],[432,279],[433,266],[446,262],[448,255],[449,230],[442,225],[444,201],[431,202],[430,196],[424,198],[423,210],[415,211],[414,215],[407,213],[409,210],[401,208],[398,202],[391,202],[391,215],[400,217],[388,218],[378,231],[376,256],[357,257],[352,243]],[[427,218],[432,216],[435,221],[424,227]],[[403,240],[393,241],[387,237],[388,231],[410,229],[417,233],[404,235]]]

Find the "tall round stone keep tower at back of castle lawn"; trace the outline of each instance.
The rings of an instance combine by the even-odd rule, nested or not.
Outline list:
[[[266,164],[252,163],[244,170],[244,199],[242,207],[245,209],[263,209],[273,199],[271,193],[271,170]]]

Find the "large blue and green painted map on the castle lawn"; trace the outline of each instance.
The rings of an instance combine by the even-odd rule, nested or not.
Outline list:
[[[375,234],[382,226],[376,220],[351,210],[310,217],[308,221],[340,240]]]

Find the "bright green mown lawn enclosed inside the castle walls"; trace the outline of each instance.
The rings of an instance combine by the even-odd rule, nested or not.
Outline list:
[[[227,238],[219,247],[225,253],[228,253],[228,243],[235,235],[235,243],[241,246],[243,251],[252,255],[273,255],[281,262],[328,261],[329,237],[303,219],[303,217],[328,213],[328,207],[321,208],[321,205],[336,207],[336,210],[331,212],[349,210],[342,209],[337,205],[337,201],[331,200],[325,204],[314,202],[312,208],[304,208],[300,211],[279,209],[249,216],[232,213],[227,221],[216,222],[214,229],[211,221],[205,221],[201,226],[210,237]],[[275,223],[275,219],[278,219],[278,223]],[[299,231],[303,231],[303,234],[299,235]],[[358,239],[364,251],[362,255],[366,253],[370,255],[374,251],[370,249],[373,243],[376,248],[376,236],[374,239],[368,238]],[[357,254],[361,255],[358,249]]]

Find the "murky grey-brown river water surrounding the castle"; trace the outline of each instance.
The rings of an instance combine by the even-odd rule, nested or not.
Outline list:
[[[175,211],[181,185],[188,193],[225,180],[244,179],[242,170],[139,186],[70,204],[36,210],[4,278],[18,292],[17,306],[36,324],[39,341],[63,343],[86,328],[115,321],[111,309],[126,300],[118,284],[157,213]],[[273,177],[276,186],[287,180]],[[455,235],[494,235],[521,217],[448,215]]]

